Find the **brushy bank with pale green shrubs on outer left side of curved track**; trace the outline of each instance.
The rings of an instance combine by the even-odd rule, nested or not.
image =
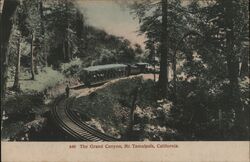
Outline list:
[[[21,73],[20,91],[11,89],[8,82],[6,100],[2,103],[1,139],[4,141],[60,140],[59,132],[49,119],[50,107],[58,95],[65,92],[65,86],[77,85],[75,78],[65,77],[59,71],[46,68],[39,71],[35,80]]]

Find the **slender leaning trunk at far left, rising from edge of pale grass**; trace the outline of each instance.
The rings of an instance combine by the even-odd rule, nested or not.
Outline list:
[[[13,84],[13,89],[16,91],[20,91],[20,83],[19,83],[19,75],[20,75],[20,60],[21,60],[21,52],[20,52],[20,38],[18,40],[17,45],[17,62],[16,62],[16,73],[15,73],[15,80]]]

